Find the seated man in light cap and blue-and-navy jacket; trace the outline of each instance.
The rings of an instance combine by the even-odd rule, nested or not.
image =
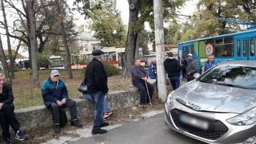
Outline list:
[[[51,71],[51,76],[41,86],[43,103],[51,109],[54,121],[54,132],[60,133],[60,107],[70,108],[71,126],[83,127],[77,120],[76,102],[68,98],[68,90],[64,81],[58,79],[60,73],[57,70]]]

